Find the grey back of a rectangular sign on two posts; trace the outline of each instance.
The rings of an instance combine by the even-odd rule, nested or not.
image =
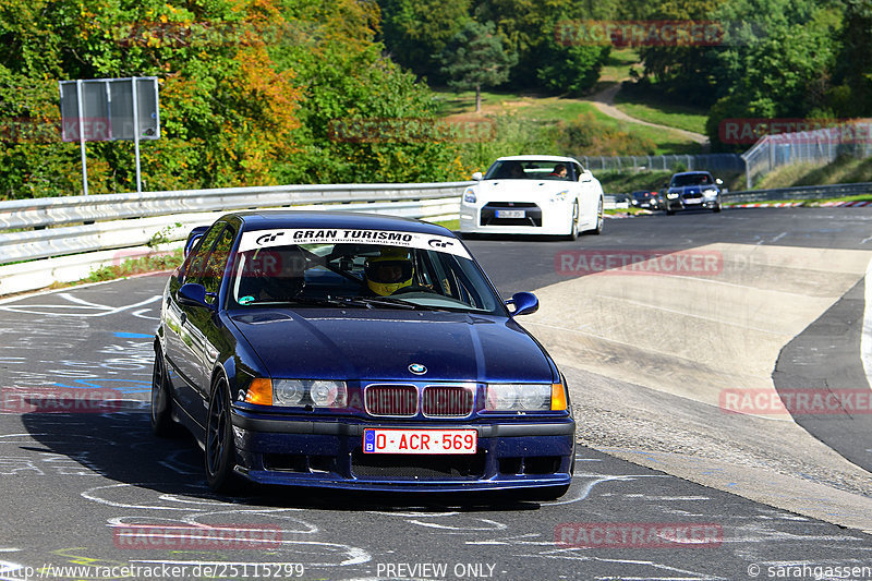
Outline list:
[[[61,81],[61,138],[78,142],[82,185],[88,194],[85,142],[133,141],[136,192],[142,192],[140,141],[160,138],[156,76]]]

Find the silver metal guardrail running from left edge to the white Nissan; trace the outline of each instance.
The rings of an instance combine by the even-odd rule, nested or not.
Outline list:
[[[451,220],[471,183],[283,185],[0,202],[0,295],[172,251],[191,228],[231,210],[293,207]]]

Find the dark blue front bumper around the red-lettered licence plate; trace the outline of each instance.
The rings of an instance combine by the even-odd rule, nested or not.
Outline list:
[[[571,417],[391,422],[277,420],[233,409],[238,472],[262,484],[368,491],[460,492],[564,486],[571,482]],[[363,431],[473,428],[475,455],[363,453]]]

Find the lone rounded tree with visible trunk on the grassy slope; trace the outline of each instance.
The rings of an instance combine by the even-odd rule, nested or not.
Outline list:
[[[470,21],[448,43],[439,56],[441,71],[456,90],[475,89],[475,112],[482,111],[482,87],[492,87],[509,78],[509,70],[518,62],[506,52],[494,23]]]

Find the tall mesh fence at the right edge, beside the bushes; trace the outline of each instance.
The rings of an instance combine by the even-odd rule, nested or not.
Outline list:
[[[839,156],[872,156],[872,123],[841,123],[798,133],[765,135],[741,155],[746,162],[746,187],[772,170],[794,164],[828,164]]]

